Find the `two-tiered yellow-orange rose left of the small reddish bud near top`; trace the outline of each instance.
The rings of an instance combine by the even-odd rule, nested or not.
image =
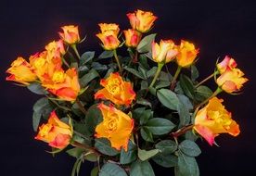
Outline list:
[[[114,23],[100,23],[101,33],[97,33],[96,37],[102,42],[102,46],[106,50],[114,50],[119,47],[120,41],[118,40],[119,26]]]

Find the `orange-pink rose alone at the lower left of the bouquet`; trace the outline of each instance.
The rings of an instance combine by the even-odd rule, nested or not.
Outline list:
[[[70,126],[59,120],[55,111],[53,111],[48,122],[39,127],[39,132],[35,139],[44,141],[52,147],[62,149],[70,144],[71,136]]]

